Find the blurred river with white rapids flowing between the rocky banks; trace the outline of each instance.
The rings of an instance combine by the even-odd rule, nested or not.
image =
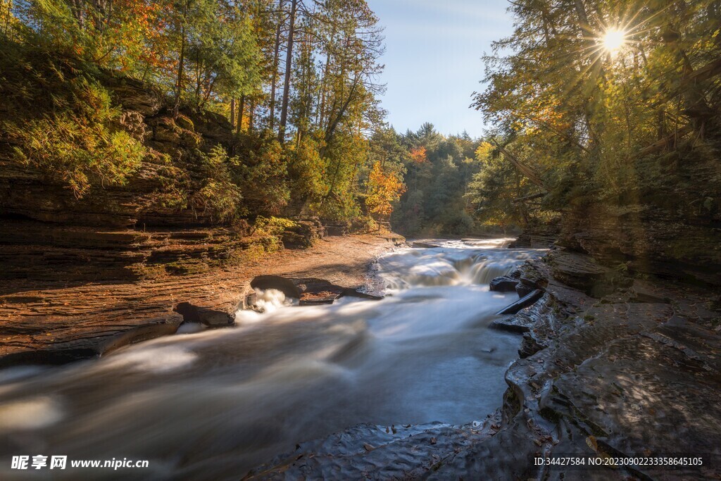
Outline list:
[[[382,301],[288,306],[237,327],[174,335],[63,368],[0,371],[0,478],[12,455],[148,459],[143,479],[238,479],[357,423],[466,423],[501,403],[519,339],[487,326],[515,294],[487,282],[536,255],[508,239],[381,257]],[[66,469],[53,479],[127,478]],[[45,475],[48,472],[45,471]]]

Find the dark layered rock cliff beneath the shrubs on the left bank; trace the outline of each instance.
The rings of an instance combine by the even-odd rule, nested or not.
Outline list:
[[[207,177],[198,152],[236,149],[226,118],[181,112],[133,79],[105,74],[102,86],[121,110],[117,125],[148,154],[124,185],[98,185],[76,198],[66,182],[18,162],[12,136],[0,141],[0,278],[108,281],[198,273],[262,252],[309,247],[323,235],[317,219],[296,219],[273,237],[243,219],[220,221],[195,202]],[[12,85],[0,87],[6,97]],[[17,96],[17,95],[16,95]],[[17,118],[22,102],[8,102],[0,120]],[[12,108],[14,106],[14,108]],[[38,106],[32,115],[42,116]],[[282,243],[281,243],[282,242]]]

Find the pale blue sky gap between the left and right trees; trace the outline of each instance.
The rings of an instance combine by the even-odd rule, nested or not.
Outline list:
[[[383,107],[397,131],[423,122],[444,134],[483,133],[483,116],[469,109],[483,87],[481,61],[491,42],[512,32],[505,0],[368,0],[385,27],[387,92]]]

